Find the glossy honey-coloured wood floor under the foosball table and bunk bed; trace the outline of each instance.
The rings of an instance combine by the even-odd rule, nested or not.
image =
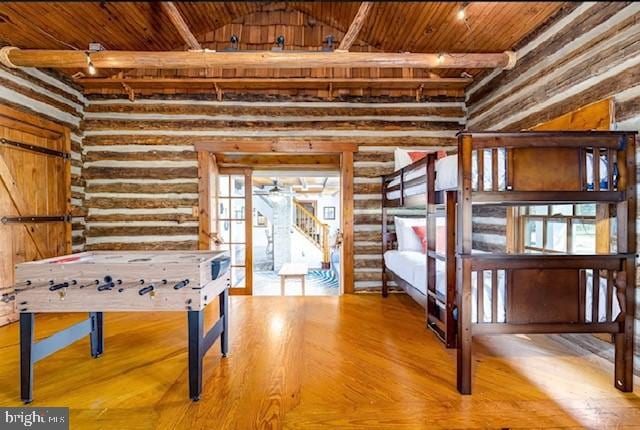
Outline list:
[[[72,429],[640,427],[640,390],[548,337],[474,344],[473,396],[454,351],[406,296],[232,297],[231,355],[214,345],[202,400],[187,398],[186,316],[107,314],[105,354],[86,340],[38,363],[34,405],[70,406]],[[45,336],[79,315],[42,315]],[[19,405],[18,326],[0,329],[0,405]]]

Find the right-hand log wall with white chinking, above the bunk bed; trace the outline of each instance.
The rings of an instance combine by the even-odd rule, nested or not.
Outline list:
[[[528,129],[611,98],[612,128],[640,130],[640,3],[583,3],[517,54],[467,91],[470,129]],[[639,348],[640,289],[637,303]]]

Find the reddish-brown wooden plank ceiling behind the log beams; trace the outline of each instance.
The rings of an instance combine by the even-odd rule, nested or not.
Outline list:
[[[241,50],[270,50],[276,37],[284,35],[285,49],[318,50],[328,35],[335,47],[351,26],[361,2],[179,2],[177,11],[202,48],[223,50],[231,35],[240,39]],[[465,8],[465,20],[457,18]],[[384,52],[502,52],[514,49],[568,2],[374,2],[366,11],[352,51]],[[0,41],[19,48],[79,49],[99,42],[109,50],[187,49],[176,17],[154,2],[5,2],[0,4]],[[173,21],[172,21],[173,19]],[[64,69],[67,74],[80,70]],[[85,72],[82,70],[81,72]],[[258,69],[258,70],[99,70],[97,77],[135,78],[368,78],[370,87],[377,78],[460,78],[477,76],[481,70],[447,69]],[[470,83],[467,78],[458,89]],[[212,83],[206,83],[211,91]],[[322,84],[322,83],[321,83]],[[443,83],[444,84],[444,83]],[[111,85],[87,82],[89,92],[123,92],[125,86],[144,88],[144,82]],[[221,84],[222,85],[222,84]],[[240,84],[236,84],[238,86]],[[264,83],[261,83],[264,87]],[[282,84],[279,84],[282,87]],[[311,84],[306,84],[307,87]],[[383,86],[395,88],[390,82]],[[398,84],[408,91],[407,84]],[[156,88],[149,91],[157,92]],[[165,82],[166,88],[184,88],[184,83]],[[326,86],[326,85],[324,85]],[[339,86],[339,85],[338,85]],[[343,84],[343,87],[348,85]],[[409,84],[409,86],[413,86]],[[415,85],[421,88],[420,84]],[[203,82],[194,85],[201,91]],[[378,88],[380,84],[378,84]],[[455,87],[455,86],[454,86]],[[260,89],[263,90],[264,88]],[[281,88],[279,88],[281,89]],[[180,92],[185,91],[181,89]],[[240,91],[238,88],[232,91]],[[290,91],[287,89],[286,91]],[[353,88],[343,88],[353,91]],[[379,91],[379,90],[377,90]],[[330,91],[331,92],[331,91]],[[426,95],[456,95],[460,91],[446,83],[442,89],[427,88]],[[329,94],[331,95],[331,94]]]

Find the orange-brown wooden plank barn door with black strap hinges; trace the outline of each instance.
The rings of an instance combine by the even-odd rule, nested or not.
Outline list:
[[[69,130],[0,104],[0,293],[24,261],[71,252]],[[0,325],[17,319],[0,302]]]

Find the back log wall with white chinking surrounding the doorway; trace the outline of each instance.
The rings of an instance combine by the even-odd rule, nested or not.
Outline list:
[[[92,100],[83,121],[87,249],[195,249],[197,141],[285,137],[359,145],[355,286],[381,286],[381,179],[397,146],[456,144],[464,103]]]

